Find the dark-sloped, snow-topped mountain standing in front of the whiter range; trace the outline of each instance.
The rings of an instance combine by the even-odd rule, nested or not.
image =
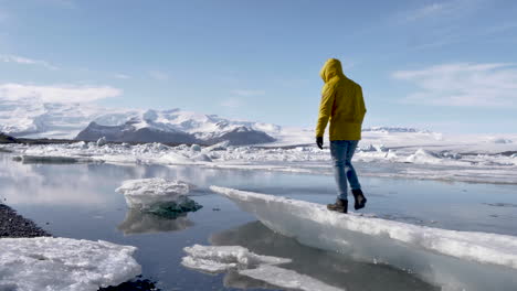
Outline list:
[[[231,121],[218,116],[186,112],[179,109],[147,110],[133,116],[124,125],[102,126],[93,121],[75,139],[108,141],[175,142],[214,144],[230,141],[231,144],[254,144],[275,141],[260,130],[279,130],[273,125],[247,121]]]

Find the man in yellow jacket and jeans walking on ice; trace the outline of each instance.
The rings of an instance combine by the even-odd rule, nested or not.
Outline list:
[[[329,58],[319,72],[325,85],[321,90],[319,117],[316,127],[316,144],[323,149],[323,137],[330,120],[330,154],[334,162],[334,174],[338,187],[335,204],[327,208],[340,213],[348,212],[347,180],[355,198],[355,209],[365,207],[367,198],[362,194],[351,158],[361,139],[361,125],[366,107],[362,89],[342,74],[339,60]]]

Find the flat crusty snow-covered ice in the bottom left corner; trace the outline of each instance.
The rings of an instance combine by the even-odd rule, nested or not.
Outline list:
[[[1,238],[0,290],[96,291],[141,273],[136,248],[70,238]]]

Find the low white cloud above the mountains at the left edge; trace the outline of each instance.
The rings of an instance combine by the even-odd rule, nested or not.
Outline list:
[[[0,84],[0,99],[7,100],[36,98],[44,103],[91,103],[116,97],[122,93],[120,89],[109,86]]]

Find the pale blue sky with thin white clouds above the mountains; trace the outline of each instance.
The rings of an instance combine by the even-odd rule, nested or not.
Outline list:
[[[336,57],[363,127],[516,132],[515,15],[514,0],[0,0],[0,100],[312,128]]]

